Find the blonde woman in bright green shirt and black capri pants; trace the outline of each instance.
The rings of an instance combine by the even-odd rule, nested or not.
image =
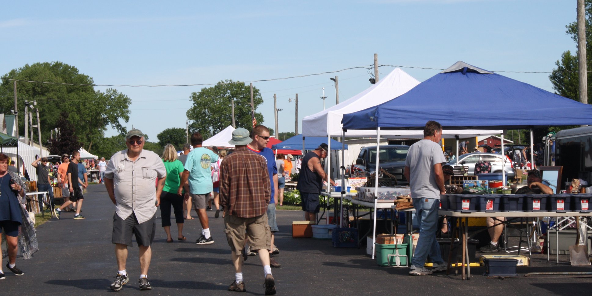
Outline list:
[[[183,173],[183,164],[177,160],[177,152],[173,145],[167,144],[165,150],[162,152],[162,161],[166,168],[165,187],[162,189],[160,196],[160,221],[162,227],[165,228],[166,242],[172,243],[173,238],[170,236],[170,206],[173,206],[175,211],[175,221],[179,230],[178,240],[185,240],[183,236],[183,196],[177,195],[179,189],[179,182],[181,182],[181,174]],[[187,188],[185,188],[186,190]]]

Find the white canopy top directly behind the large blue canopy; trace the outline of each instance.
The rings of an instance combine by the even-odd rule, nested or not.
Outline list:
[[[384,78],[356,96],[349,98],[329,109],[304,117],[302,129],[304,136],[340,136],[342,135],[341,120],[343,114],[356,112],[368,107],[377,106],[392,98],[407,93],[419,81],[411,77],[400,68],[395,68]],[[366,135],[367,131],[361,131]],[[355,131],[348,131],[347,135],[355,136]]]

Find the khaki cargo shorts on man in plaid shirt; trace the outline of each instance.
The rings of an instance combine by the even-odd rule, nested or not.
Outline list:
[[[253,218],[240,218],[227,214],[224,216],[224,233],[234,254],[240,255],[244,247],[244,240],[249,240],[251,251],[271,250],[271,230],[267,221],[267,214]]]

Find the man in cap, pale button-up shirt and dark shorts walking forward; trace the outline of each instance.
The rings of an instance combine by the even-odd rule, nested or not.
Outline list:
[[[133,246],[131,238],[135,235],[140,247],[140,290],[148,290],[152,289],[148,281],[150,244],[156,231],[156,208],[165,184],[166,168],[155,152],[143,149],[144,134],[139,129],[127,133],[126,145],[127,149],[111,157],[105,171],[105,187],[115,205],[112,242],[118,271],[111,289],[119,291],[129,281],[127,246]]]

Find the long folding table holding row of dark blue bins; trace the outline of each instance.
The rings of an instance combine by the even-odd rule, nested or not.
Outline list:
[[[469,263],[469,254],[467,248],[467,241],[468,241],[468,218],[480,218],[480,217],[516,217],[516,218],[536,218],[536,217],[592,217],[592,212],[590,213],[580,213],[580,212],[564,212],[564,213],[556,213],[556,212],[472,212],[472,213],[462,213],[462,212],[452,212],[452,211],[438,211],[439,215],[446,215],[452,218],[464,218],[464,222],[458,224],[459,230],[462,231],[462,279],[471,279],[471,266]],[[452,225],[457,225],[456,222],[453,222]],[[528,229],[529,224],[526,224]],[[462,229],[461,229],[462,228]],[[528,230],[527,230],[528,231]],[[549,249],[549,247],[547,248]],[[466,263],[466,266],[465,266]],[[465,274],[465,267],[466,267],[466,274]]]

